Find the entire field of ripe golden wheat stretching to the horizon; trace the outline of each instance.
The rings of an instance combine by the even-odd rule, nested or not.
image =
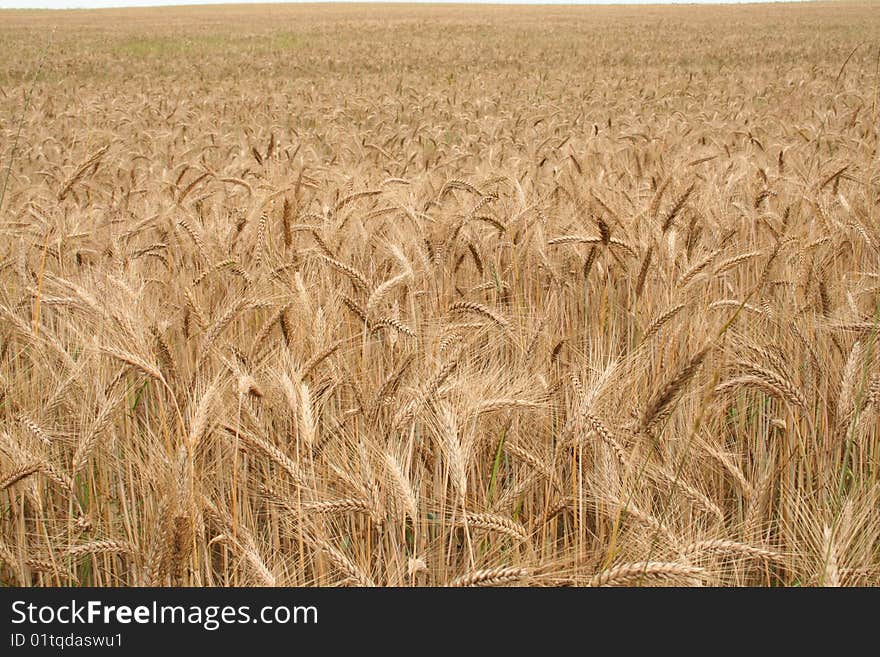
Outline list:
[[[0,12],[0,582],[880,584],[878,44]]]

